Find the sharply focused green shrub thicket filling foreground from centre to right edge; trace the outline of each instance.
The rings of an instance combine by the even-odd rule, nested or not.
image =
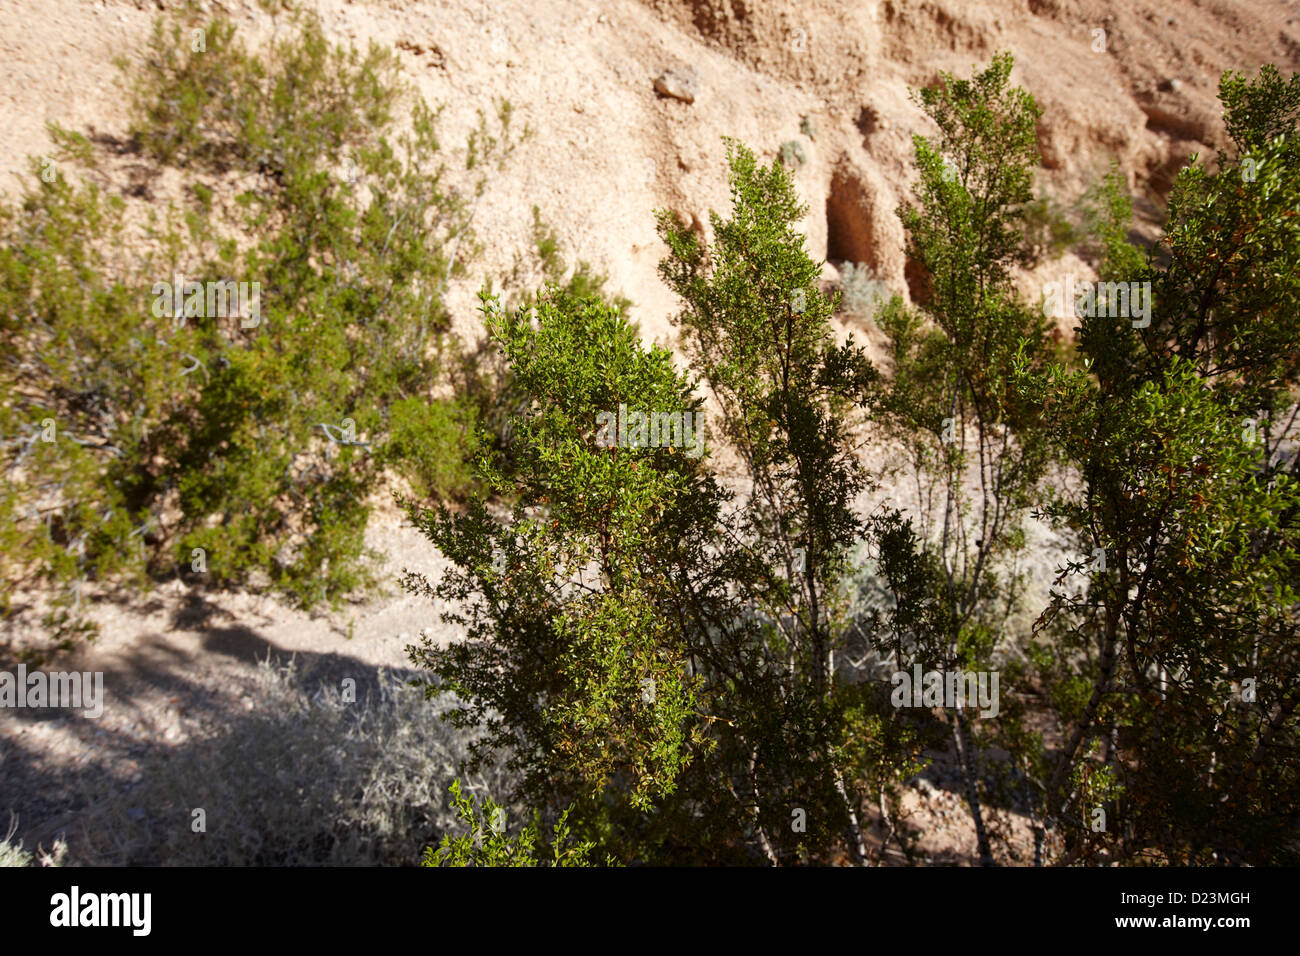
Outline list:
[[[1098,272],[1149,284],[1150,310],[1119,315],[1106,293],[1061,362],[1013,282],[1040,111],[1011,65],[918,94],[939,133],[914,138],[916,202],[898,212],[932,295],[880,310],[888,377],[829,334],[780,159],[731,150],[711,246],[660,213],[729,483],[630,421],[602,432],[620,406],[703,405],[618,310],[484,297],[528,401],[515,455],[482,480],[519,497],[506,515],[412,509],[452,567],[406,584],[459,602],[443,617],[468,631],[412,659],[459,695],[455,721],[486,722],[474,757],[511,753],[523,799],[572,804],[601,852],[866,861],[862,816],[897,829],[937,728],[983,865],[1002,839],[989,808],[1013,800],[1039,862],[1297,858],[1300,78],[1223,78],[1235,155],[1179,174],[1167,263],[1128,242],[1123,181],[1100,183]],[[876,477],[859,424],[901,449],[914,507],[855,511]],[[1027,587],[1035,520],[1072,551],[1045,607]],[[885,678],[911,666],[1001,675],[997,713],[900,713]]]

